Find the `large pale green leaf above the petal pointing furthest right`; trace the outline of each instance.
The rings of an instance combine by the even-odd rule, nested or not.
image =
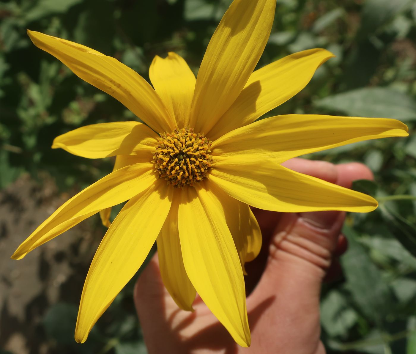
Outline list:
[[[415,100],[386,87],[355,89],[314,101],[314,105],[348,116],[416,119]]]

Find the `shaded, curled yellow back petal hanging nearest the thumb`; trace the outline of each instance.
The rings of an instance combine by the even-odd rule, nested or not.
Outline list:
[[[225,220],[233,236],[241,266],[245,273],[244,263],[253,260],[260,252],[262,244],[260,227],[247,204],[228,196],[213,183],[209,185],[209,188],[217,196],[223,207]]]

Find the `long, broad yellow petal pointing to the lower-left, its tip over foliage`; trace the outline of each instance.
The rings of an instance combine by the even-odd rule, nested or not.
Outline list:
[[[173,188],[157,180],[131,198],[114,219],[89,267],[75,340],[83,343],[97,319],[146,259],[171,207]]]

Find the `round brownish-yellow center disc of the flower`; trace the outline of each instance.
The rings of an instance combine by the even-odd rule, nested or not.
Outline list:
[[[153,158],[159,177],[176,187],[203,180],[212,163],[210,146],[211,141],[192,128],[161,134]]]

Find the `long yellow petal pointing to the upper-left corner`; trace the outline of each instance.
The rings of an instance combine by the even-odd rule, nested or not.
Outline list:
[[[119,100],[157,132],[172,131],[175,122],[152,87],[113,57],[68,40],[27,31],[36,47],[59,59],[74,74]]]

